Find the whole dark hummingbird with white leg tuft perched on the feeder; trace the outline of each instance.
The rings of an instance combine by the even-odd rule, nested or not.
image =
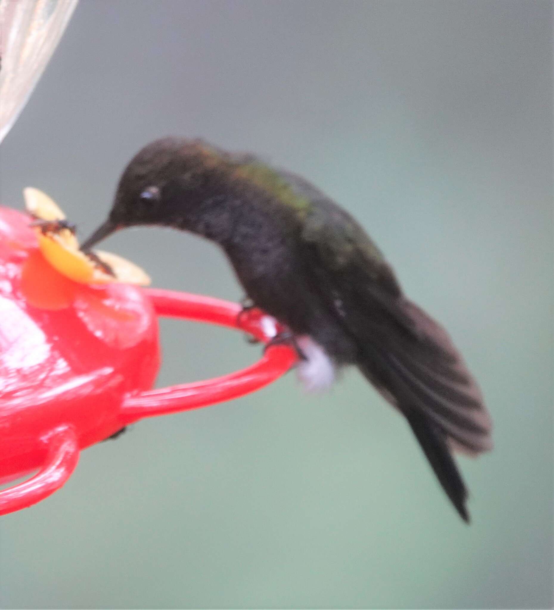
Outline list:
[[[400,412],[460,517],[468,490],[453,453],[492,448],[477,382],[439,323],[409,300],[378,246],[306,179],[250,153],[168,137],[121,174],[87,252],[123,228],[181,229],[215,242],[251,304],[287,329],[308,390],[349,365]]]

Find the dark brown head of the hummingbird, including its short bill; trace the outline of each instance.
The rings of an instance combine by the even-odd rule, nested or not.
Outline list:
[[[121,174],[107,220],[83,243],[87,251],[119,229],[174,226],[205,234],[205,205],[225,194],[225,153],[202,140],[163,138],[146,145]],[[217,198],[215,198],[217,199]]]

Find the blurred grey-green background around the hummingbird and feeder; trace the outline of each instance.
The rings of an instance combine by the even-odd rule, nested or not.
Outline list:
[[[0,149],[0,199],[79,224],[149,140],[202,136],[359,218],[483,387],[495,450],[460,458],[473,524],[353,371],[294,375],[85,451],[0,521],[2,608],[552,607],[550,2],[81,0]],[[107,242],[155,285],[237,300],[223,255],[171,231]],[[259,346],[162,321],[159,385]]]

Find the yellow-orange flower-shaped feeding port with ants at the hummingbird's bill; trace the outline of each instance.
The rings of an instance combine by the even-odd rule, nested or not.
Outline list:
[[[146,286],[150,283],[140,267],[121,256],[101,250],[94,251],[94,256],[81,252],[74,232],[63,224],[65,214],[46,193],[27,187],[23,197],[27,212],[37,221],[38,247],[59,273],[80,284],[124,282]],[[104,265],[113,274],[107,273]]]

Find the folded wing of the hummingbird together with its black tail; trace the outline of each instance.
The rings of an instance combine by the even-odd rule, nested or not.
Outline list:
[[[312,202],[304,221],[306,274],[358,345],[358,366],[408,419],[439,482],[464,520],[467,489],[450,450],[492,448],[481,392],[447,332],[402,293],[394,271],[345,210],[295,174]]]

